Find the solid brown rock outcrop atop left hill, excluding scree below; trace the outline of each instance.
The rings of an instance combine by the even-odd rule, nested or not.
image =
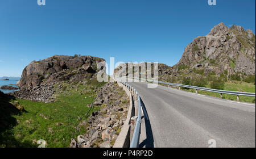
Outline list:
[[[55,55],[41,61],[32,61],[22,72],[19,87],[36,87],[42,82],[80,81],[97,72],[102,58],[92,56]]]

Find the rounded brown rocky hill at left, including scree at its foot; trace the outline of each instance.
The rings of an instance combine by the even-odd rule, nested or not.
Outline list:
[[[17,83],[20,91],[15,91],[18,98],[32,101],[52,102],[55,93],[52,89],[60,82],[88,81],[100,70],[98,62],[102,58],[92,56],[55,55],[44,60],[32,61],[22,72]]]

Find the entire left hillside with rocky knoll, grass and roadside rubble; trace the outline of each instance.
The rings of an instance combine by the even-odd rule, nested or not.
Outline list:
[[[0,91],[0,148],[113,147],[130,102],[117,82],[97,81],[101,61],[55,55],[26,66],[19,91]]]

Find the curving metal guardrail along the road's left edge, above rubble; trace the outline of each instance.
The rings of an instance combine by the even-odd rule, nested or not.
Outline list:
[[[136,122],[135,122],[134,129],[131,128],[132,138],[131,138],[131,142],[130,142],[130,148],[138,148],[139,147],[139,136],[140,136],[140,133],[141,133],[141,97],[139,97],[139,94],[138,94],[137,90],[134,89],[133,86],[129,85],[126,82],[122,82],[122,81],[119,81],[119,82],[122,83],[122,85],[124,85],[129,91],[134,92],[137,96],[138,116],[134,116],[131,119],[131,120],[133,120],[133,122],[135,122],[135,121]]]

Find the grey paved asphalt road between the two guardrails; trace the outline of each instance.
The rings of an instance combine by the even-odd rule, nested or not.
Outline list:
[[[151,146],[209,147],[208,141],[214,139],[216,147],[255,147],[255,104],[164,86],[148,89],[145,82],[129,83],[146,107]]]

